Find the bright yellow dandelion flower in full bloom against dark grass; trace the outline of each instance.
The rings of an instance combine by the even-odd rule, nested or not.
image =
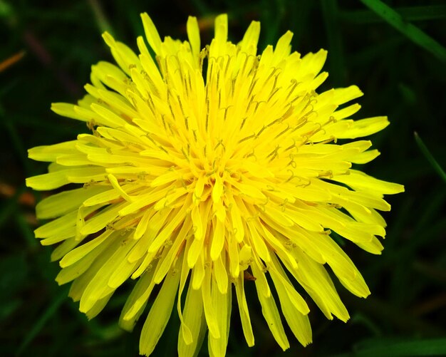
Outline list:
[[[147,14],[142,23],[156,61],[142,36],[137,55],[104,33],[118,66],[99,62],[78,105],[52,106],[92,134],[29,150],[33,160],[51,162],[47,174],[26,180],[29,187],[83,184],[36,207],[38,218],[53,219],[35,233],[43,245],[58,244],[56,280],[73,281],[69,295],[93,318],[135,279],[119,322],[132,330],[152,299],[140,338],[145,355],[175,298],[180,356],[192,356],[207,329],[209,353],[224,355],[232,286],[253,346],[244,284],[255,285],[281,348],[289,348],[281,314],[304,346],[311,343],[308,305],[294,286],[328,319],[347,321],[324,266],[353,294],[370,291],[330,234],[380,254],[385,221],[377,209],[390,209],[384,194],[403,192],[352,169],[379,155],[370,141],[336,140],[376,133],[387,118],[349,119],[358,104],[338,109],[363,94],[356,86],[316,93],[328,76],[320,73],[326,51],[291,52],[291,32],[258,55],[256,21],[234,44],[227,15],[217,16],[204,48],[195,17],[183,42],[162,41]]]

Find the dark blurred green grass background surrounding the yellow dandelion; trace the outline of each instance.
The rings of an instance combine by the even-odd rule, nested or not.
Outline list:
[[[115,294],[97,318],[87,321],[57,286],[58,264],[51,247],[33,238],[35,202],[25,177],[46,171],[26,150],[72,140],[84,123],[61,118],[51,102],[75,103],[88,83],[90,66],[113,61],[100,34],[108,30],[136,49],[143,34],[139,14],[147,11],[161,36],[186,39],[188,15],[199,18],[202,44],[213,36],[212,20],[229,14],[229,38],[242,38],[251,20],[261,21],[259,51],[286,30],[293,48],[305,54],[328,50],[330,73],[321,90],[358,85],[365,93],[355,118],[388,115],[390,126],[371,138],[380,157],[363,170],[405,185],[388,201],[388,237],[381,256],[353,244],[343,249],[356,262],[372,295],[338,290],[351,313],[347,324],[327,321],[311,307],[313,344],[303,348],[288,330],[291,348],[276,345],[264,322],[255,289],[247,286],[256,345],[248,348],[233,307],[229,356],[410,356],[446,354],[445,177],[435,171],[414,138],[417,131],[431,158],[446,167],[446,2],[385,1],[432,45],[406,29],[401,33],[375,14],[370,1],[0,1],[0,356],[138,356],[139,332],[121,331],[118,316],[126,299]],[[43,5],[46,4],[46,5]],[[415,43],[415,42],[419,43]],[[10,59],[7,62],[2,62]],[[248,285],[248,284],[247,284]],[[156,355],[177,354],[179,321],[172,314]],[[442,349],[443,348],[443,349]],[[443,351],[443,352],[441,352]],[[207,354],[207,341],[200,355]]]

